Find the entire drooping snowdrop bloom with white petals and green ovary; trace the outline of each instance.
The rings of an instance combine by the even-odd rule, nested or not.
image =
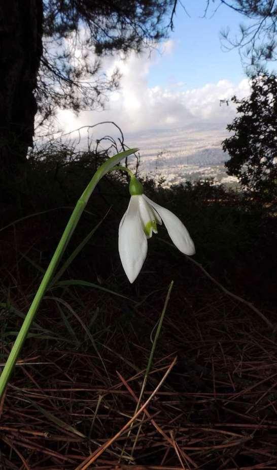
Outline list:
[[[119,225],[119,255],[124,271],[133,283],[147,255],[147,239],[157,233],[157,224],[164,223],[168,235],[179,250],[194,255],[195,248],[186,227],[176,215],[143,194],[143,185],[132,176],[131,199]]]

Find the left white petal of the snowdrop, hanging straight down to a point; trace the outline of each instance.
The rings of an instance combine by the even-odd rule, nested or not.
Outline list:
[[[122,217],[118,248],[124,271],[130,283],[133,283],[147,254],[147,238],[140,218],[139,196],[131,196],[128,209]]]

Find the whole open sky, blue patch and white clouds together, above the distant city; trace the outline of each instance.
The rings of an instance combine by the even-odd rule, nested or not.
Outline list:
[[[234,106],[220,106],[220,100],[249,94],[250,86],[241,66],[238,50],[223,50],[220,31],[237,32],[243,17],[226,6],[212,3],[203,18],[204,0],[187,0],[186,11],[178,4],[175,28],[169,38],[151,51],[105,57],[108,76],[118,67],[120,87],[110,93],[105,110],[57,113],[64,132],[100,121],[115,121],[124,135],[182,127],[218,128],[221,132],[235,116]],[[214,14],[213,14],[214,13]],[[95,135],[109,133],[103,124]]]

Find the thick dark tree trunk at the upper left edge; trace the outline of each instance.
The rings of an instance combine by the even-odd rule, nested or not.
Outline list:
[[[32,146],[42,56],[42,0],[0,2],[0,165],[14,179]],[[1,178],[2,179],[2,178]]]

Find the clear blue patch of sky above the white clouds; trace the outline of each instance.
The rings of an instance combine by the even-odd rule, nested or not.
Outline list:
[[[224,5],[212,16],[212,4],[203,18],[204,1],[187,0],[184,4],[190,17],[178,4],[174,32],[169,36],[174,41],[172,53],[163,54],[151,68],[149,85],[184,82],[185,88],[194,88],[222,79],[239,82],[245,75],[238,50],[223,52],[220,31],[229,26],[235,34],[244,17]]]

